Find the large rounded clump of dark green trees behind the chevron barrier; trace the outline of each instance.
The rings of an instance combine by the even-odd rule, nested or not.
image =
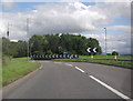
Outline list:
[[[39,54],[50,53],[50,54],[63,54],[63,51],[68,51],[69,54],[88,54],[86,48],[98,48],[99,53],[102,53],[99,41],[93,38],[86,39],[83,36],[74,34],[44,34],[44,36],[33,36],[30,41],[31,53],[34,54],[35,51]],[[96,53],[93,53],[96,54]]]

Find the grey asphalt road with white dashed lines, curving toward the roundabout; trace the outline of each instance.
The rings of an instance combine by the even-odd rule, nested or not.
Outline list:
[[[84,62],[39,61],[3,88],[3,99],[130,99],[131,70]]]

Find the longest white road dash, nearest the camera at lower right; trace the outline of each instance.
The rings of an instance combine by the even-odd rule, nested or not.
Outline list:
[[[129,97],[124,95],[123,93],[121,93],[120,91],[113,89],[112,87],[105,84],[104,82],[100,81],[99,79],[94,78],[93,75],[89,75],[91,79],[95,80],[96,82],[99,82],[100,84],[102,84],[103,87],[108,88],[109,90],[111,90],[112,92],[114,92],[115,94],[117,94],[119,97],[123,98],[123,99],[130,99]]]

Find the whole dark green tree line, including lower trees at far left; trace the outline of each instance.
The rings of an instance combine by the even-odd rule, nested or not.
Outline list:
[[[11,42],[2,38],[2,52],[7,54],[7,41],[9,41],[9,53],[13,57],[27,57],[27,42],[19,40]],[[98,53],[88,53],[88,48],[98,48]],[[99,41],[94,38],[86,38],[81,34],[44,34],[32,36],[29,39],[29,54],[63,54],[66,51],[69,54],[101,54],[102,50]]]

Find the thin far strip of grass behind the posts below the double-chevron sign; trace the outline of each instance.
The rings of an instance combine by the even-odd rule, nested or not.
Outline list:
[[[115,55],[94,55],[95,59],[100,58],[100,59],[114,59]],[[91,58],[91,55],[79,55],[79,58]],[[133,57],[131,55],[117,55],[117,59],[133,59]]]

